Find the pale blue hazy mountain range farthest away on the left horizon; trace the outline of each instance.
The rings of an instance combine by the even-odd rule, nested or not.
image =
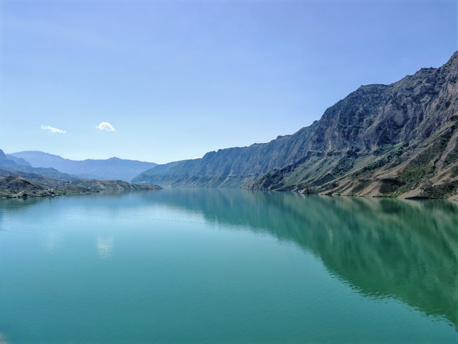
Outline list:
[[[17,152],[11,155],[28,161],[33,167],[51,167],[85,179],[130,181],[138,173],[157,165],[153,162],[125,160],[117,157],[106,160],[70,160],[39,151]]]

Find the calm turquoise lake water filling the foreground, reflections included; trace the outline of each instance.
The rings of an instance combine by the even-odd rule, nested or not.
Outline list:
[[[0,200],[0,333],[456,343],[457,250],[449,201],[238,189]]]

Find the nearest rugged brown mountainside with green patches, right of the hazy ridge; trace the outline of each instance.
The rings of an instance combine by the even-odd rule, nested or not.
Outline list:
[[[327,109],[308,156],[246,188],[454,199],[457,120],[458,52],[441,68],[360,87]]]

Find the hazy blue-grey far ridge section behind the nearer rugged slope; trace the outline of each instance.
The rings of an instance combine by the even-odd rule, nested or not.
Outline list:
[[[293,135],[268,143],[210,152],[201,159],[159,165],[132,179],[132,183],[161,186],[243,187],[258,176],[293,163],[307,153],[307,144],[315,124]]]

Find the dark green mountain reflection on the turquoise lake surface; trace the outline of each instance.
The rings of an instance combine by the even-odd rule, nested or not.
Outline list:
[[[457,203],[240,189],[121,191],[113,197],[114,193],[75,197],[103,199],[110,211],[117,206],[179,208],[200,213],[209,223],[294,242],[366,297],[396,298],[458,327]],[[10,211],[18,205],[17,211],[23,211],[63,200],[2,200],[1,205]],[[97,246],[105,258],[111,254],[113,238],[99,238]]]

